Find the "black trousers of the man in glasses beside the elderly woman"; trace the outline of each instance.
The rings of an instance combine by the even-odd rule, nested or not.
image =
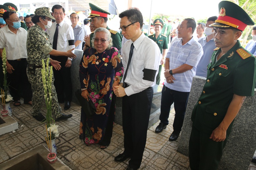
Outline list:
[[[124,153],[131,157],[129,166],[134,169],[138,169],[142,161],[152,98],[152,87],[123,97]]]

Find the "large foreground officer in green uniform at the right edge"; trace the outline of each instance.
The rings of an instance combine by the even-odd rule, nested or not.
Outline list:
[[[191,170],[218,168],[234,118],[245,96],[254,95],[255,57],[238,40],[247,25],[254,22],[242,8],[230,1],[219,3],[219,16],[210,25],[217,48],[191,116]]]

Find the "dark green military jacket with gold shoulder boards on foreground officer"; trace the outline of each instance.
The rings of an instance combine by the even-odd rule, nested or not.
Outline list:
[[[207,66],[206,83],[191,115],[193,125],[209,137],[225,117],[233,95],[253,96],[256,80],[256,59],[239,40],[216,61],[220,52],[220,48],[213,52]],[[227,129],[227,136],[232,125],[233,122]]]

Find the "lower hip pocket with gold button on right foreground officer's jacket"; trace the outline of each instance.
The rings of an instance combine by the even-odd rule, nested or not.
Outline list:
[[[219,108],[216,106],[206,106],[205,114],[203,117],[203,126],[213,131],[222,122],[227,113],[227,109]]]

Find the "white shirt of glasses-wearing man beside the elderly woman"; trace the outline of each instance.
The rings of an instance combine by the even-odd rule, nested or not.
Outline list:
[[[134,45],[133,55],[130,66],[128,70],[126,70],[132,43]],[[145,36],[143,32],[134,42],[128,40],[124,44],[122,47],[122,63],[124,66],[124,75],[125,72],[127,72],[125,82],[130,85],[129,87],[125,88],[125,93],[127,96],[142,92],[148,87],[153,87],[156,84],[156,75],[158,73],[158,61],[160,56],[161,53],[157,44],[152,39]],[[154,82],[143,79],[144,68],[156,70]],[[123,82],[123,79],[121,82]]]

